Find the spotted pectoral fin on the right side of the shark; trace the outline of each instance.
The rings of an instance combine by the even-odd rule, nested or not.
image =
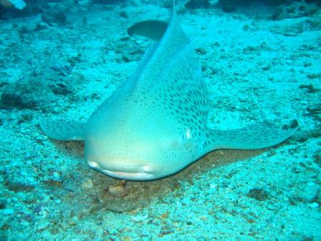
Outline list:
[[[234,130],[208,129],[205,153],[216,149],[255,150],[268,148],[290,138],[299,128],[296,120],[290,126],[277,128],[262,122]]]

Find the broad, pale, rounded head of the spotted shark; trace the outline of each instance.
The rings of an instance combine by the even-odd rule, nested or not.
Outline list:
[[[119,106],[118,106],[119,107]],[[131,108],[131,111],[134,108]],[[114,178],[153,180],[182,169],[192,155],[190,133],[183,135],[168,123],[146,123],[143,114],[118,108],[116,116],[93,115],[85,129],[85,158],[92,168]],[[108,113],[111,113],[108,111]],[[127,116],[127,118],[126,118]],[[158,125],[157,128],[155,126]]]

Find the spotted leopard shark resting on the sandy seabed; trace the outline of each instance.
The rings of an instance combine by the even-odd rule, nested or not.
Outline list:
[[[148,35],[153,21],[146,23]],[[267,148],[295,133],[297,123],[290,128],[265,122],[234,130],[208,128],[200,62],[175,8],[168,26],[156,23],[156,29],[160,25],[165,32],[151,34],[156,42],[136,71],[86,124],[42,121],[44,133],[56,140],[84,140],[92,168],[126,180],[163,178],[212,150]]]

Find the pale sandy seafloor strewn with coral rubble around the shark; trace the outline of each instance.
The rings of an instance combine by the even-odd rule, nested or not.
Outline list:
[[[169,178],[123,182],[89,168],[81,143],[41,133],[41,118],[86,121],[126,80],[151,43],[126,29],[167,20],[161,5],[70,4],[66,25],[0,21],[0,240],[321,240],[320,11],[272,21],[262,6],[178,6],[209,125],[297,119],[282,145],[217,150]]]

